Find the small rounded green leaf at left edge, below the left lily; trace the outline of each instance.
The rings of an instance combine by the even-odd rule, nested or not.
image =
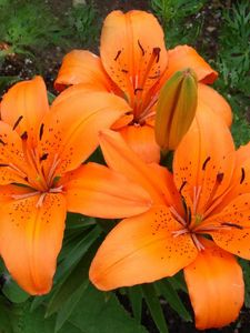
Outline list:
[[[6,280],[2,293],[12,302],[12,303],[23,303],[30,295],[26,293],[9,275]]]

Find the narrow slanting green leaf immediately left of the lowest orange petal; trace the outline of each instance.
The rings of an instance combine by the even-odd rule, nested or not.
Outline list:
[[[181,299],[179,297],[177,291],[173,289],[171,283],[164,279],[156,283],[157,289],[160,294],[166,299],[169,305],[177,311],[177,313],[187,322],[191,322],[191,315],[186,310]]]

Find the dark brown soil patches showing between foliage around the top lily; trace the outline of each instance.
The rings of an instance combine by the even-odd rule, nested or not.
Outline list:
[[[48,4],[51,7],[52,12],[59,19],[67,17],[68,11],[72,6],[71,0],[48,0]],[[88,1],[87,1],[88,2]],[[140,9],[149,11],[149,0],[93,0],[92,1],[99,13],[99,21],[101,22],[104,17],[112,10],[129,11],[131,9]],[[220,1],[213,0],[208,1],[208,4],[202,9],[201,14],[203,20],[202,33],[197,40],[196,46],[198,50],[201,50],[203,46],[209,46],[206,48],[206,53],[208,58],[214,58],[217,53],[217,40],[218,30],[220,26]],[[196,19],[196,18],[193,18]],[[98,43],[93,42],[89,49],[98,53]],[[2,67],[0,67],[1,75],[17,75],[21,79],[30,79],[34,74],[41,74],[44,78],[48,90],[56,93],[53,90],[53,81],[57,77],[60,63],[63,56],[71,49],[79,48],[79,44],[69,43],[63,47],[50,46],[42,52],[36,52],[31,50],[34,58],[23,57],[19,54],[12,54],[8,57]],[[84,47],[82,47],[83,49]]]

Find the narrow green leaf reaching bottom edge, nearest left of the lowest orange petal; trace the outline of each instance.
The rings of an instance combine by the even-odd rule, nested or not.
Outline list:
[[[169,331],[161,309],[160,300],[156,293],[153,284],[143,284],[141,287],[146,299],[146,303],[150,310],[150,313],[159,332],[168,333]]]

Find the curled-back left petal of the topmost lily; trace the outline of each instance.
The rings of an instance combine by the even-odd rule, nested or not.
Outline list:
[[[78,83],[91,84],[97,91],[111,91],[113,85],[100,58],[86,50],[73,50],[66,54],[54,87],[61,91],[67,85]]]

